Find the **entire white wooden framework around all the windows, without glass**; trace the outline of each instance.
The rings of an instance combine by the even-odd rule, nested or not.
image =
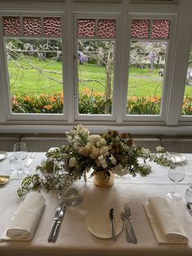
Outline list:
[[[7,2],[0,3],[0,15],[36,15],[41,13],[42,15],[63,15],[63,29],[64,35],[61,38],[63,42],[63,69],[64,69],[64,115],[56,117],[56,114],[37,114],[30,115],[25,114],[25,117],[19,117],[15,115],[15,119],[8,119],[7,113],[7,81],[5,79],[6,67],[5,67],[5,55],[2,51],[2,39],[0,39],[0,132],[2,133],[63,133],[64,130],[69,130],[77,123],[83,123],[92,132],[102,132],[107,129],[116,129],[120,131],[131,132],[133,135],[192,135],[192,117],[181,117],[181,103],[184,95],[184,86],[181,88],[181,84],[185,82],[185,74],[188,67],[190,42],[192,39],[192,18],[191,18],[191,0],[180,1],[179,4],[169,5],[159,1],[159,4],[149,4],[147,1],[140,1],[137,4],[128,0],[122,0],[122,4],[106,4],[103,2],[94,4],[91,0],[85,1],[86,3],[74,3],[72,0],[65,0],[63,3],[40,2],[34,4],[32,0],[28,0],[27,3],[16,0],[15,3]],[[176,1],[177,2],[177,1]],[[26,10],[26,11],[24,11]],[[76,120],[75,117],[75,104],[74,104],[74,15],[77,13],[98,13],[99,15],[106,16],[105,13],[110,15],[119,15],[117,32],[119,33],[118,48],[116,50],[116,84],[117,87],[117,99],[116,99],[116,115],[113,120],[101,118],[98,120],[92,118],[85,120],[80,118]],[[147,15],[155,14],[155,18],[166,15],[171,15],[175,19],[175,26],[172,30],[172,38],[175,38],[175,42],[172,39],[172,44],[169,39],[169,48],[172,47],[172,56],[169,68],[167,67],[167,74],[170,71],[168,80],[168,95],[164,98],[164,116],[162,118],[142,117],[137,115],[136,117],[126,117],[126,108],[124,108],[124,91],[127,91],[128,86],[128,67],[129,67],[129,31],[126,24],[129,24],[131,15],[140,15],[143,18],[147,18]],[[2,20],[0,20],[1,22]],[[187,22],[185,24],[185,22]],[[67,25],[66,25],[67,24]],[[183,29],[185,28],[185,29]],[[62,29],[62,30],[63,30]],[[191,34],[188,32],[191,31]],[[0,33],[2,34],[2,22],[0,24]],[[176,36],[175,36],[176,34]],[[67,37],[65,37],[67,35]],[[184,43],[185,42],[185,43]],[[181,46],[182,51],[181,51]],[[174,55],[174,56],[173,56]],[[182,64],[179,67],[179,61]],[[168,65],[168,64],[167,64]],[[172,67],[172,68],[171,68]],[[181,69],[180,69],[181,68]],[[180,71],[180,72],[179,72]],[[166,100],[165,100],[166,99]],[[167,103],[166,103],[167,101]],[[114,102],[113,102],[114,104]],[[8,104],[9,106],[9,104]],[[42,118],[43,117],[43,118]]]

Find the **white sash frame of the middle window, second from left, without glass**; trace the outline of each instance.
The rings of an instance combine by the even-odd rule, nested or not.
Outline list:
[[[112,93],[112,111],[111,114],[80,114],[78,113],[78,38],[77,38],[77,19],[111,19],[116,20],[116,44],[115,44],[115,61],[114,61],[114,81],[113,81],[113,93]],[[74,84],[75,84],[75,121],[116,121],[117,108],[116,103],[119,97],[118,94],[118,66],[120,65],[120,57],[118,55],[120,50],[120,14],[119,13],[75,13],[74,14]],[[85,38],[86,39],[86,38]],[[81,40],[81,39],[80,39]],[[84,40],[84,38],[82,38]],[[87,38],[89,40],[89,38]],[[90,40],[114,40],[113,38],[90,38]]]

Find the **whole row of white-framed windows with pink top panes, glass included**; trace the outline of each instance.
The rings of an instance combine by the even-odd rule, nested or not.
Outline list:
[[[91,2],[0,3],[0,130],[190,126],[192,2]]]

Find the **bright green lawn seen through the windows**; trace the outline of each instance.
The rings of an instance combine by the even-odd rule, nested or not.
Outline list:
[[[30,57],[28,60],[38,68],[46,69],[49,73],[43,76],[25,60],[18,60],[20,68],[15,66],[11,61],[8,62],[9,77],[11,84],[11,93],[17,95],[33,95],[59,92],[62,88],[62,64],[61,62],[43,60]],[[25,66],[27,70],[23,68]],[[106,71],[105,67],[95,64],[79,64],[78,66],[80,92],[85,88],[98,92],[103,92],[105,88]],[[46,77],[49,76],[52,78]],[[92,81],[89,81],[89,80]],[[96,82],[98,80],[99,82]],[[162,94],[162,77],[159,77],[158,70],[146,68],[130,68],[129,70],[129,96],[146,97],[161,96]],[[165,85],[166,86],[166,85]],[[185,86],[185,95],[192,96],[192,86]]]

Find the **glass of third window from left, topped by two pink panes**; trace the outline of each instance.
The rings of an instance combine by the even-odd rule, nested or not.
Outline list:
[[[128,115],[159,115],[170,20],[133,19],[129,56]]]

